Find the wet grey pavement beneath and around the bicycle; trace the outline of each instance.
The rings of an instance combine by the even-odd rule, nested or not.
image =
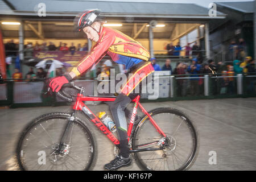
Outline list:
[[[255,170],[256,169],[256,98],[142,103],[149,111],[156,107],[174,107],[187,114],[195,124],[199,154],[190,170]],[[108,106],[88,105],[94,113],[107,111]],[[132,106],[132,105],[131,105]],[[15,147],[20,132],[33,118],[55,111],[68,111],[69,106],[0,109],[0,170],[19,170]],[[82,117],[82,116],[81,116]],[[98,158],[93,170],[114,158],[114,146],[95,126]],[[104,149],[104,150],[103,150]],[[216,160],[213,160],[213,156]],[[213,162],[214,161],[214,162]],[[119,170],[140,170],[135,162]]]

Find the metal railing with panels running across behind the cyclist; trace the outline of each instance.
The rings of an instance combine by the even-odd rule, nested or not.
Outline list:
[[[238,74],[233,76],[223,75],[164,75],[154,76],[153,82],[158,79],[158,96],[151,97],[150,93],[143,93],[144,101],[177,101],[177,100],[193,100],[193,99],[209,99],[209,98],[230,98],[230,97],[256,97],[256,75]],[[232,84],[229,84],[232,78]],[[75,82],[86,88],[86,95],[98,95],[97,86],[100,82],[96,78],[80,78]],[[194,81],[193,81],[194,80]],[[226,82],[225,82],[226,81]],[[154,85],[154,84],[152,84]],[[155,88],[156,85],[154,85]],[[195,86],[199,89],[198,93],[193,94]],[[51,106],[52,104],[64,104],[63,100],[53,96],[53,100],[49,100],[44,96],[44,82],[41,81],[22,81],[4,80],[0,84],[2,92],[0,92],[0,105],[16,106]],[[233,92],[225,92],[230,89]],[[182,93],[182,94],[181,94]],[[183,93],[185,93],[183,95]],[[149,100],[148,100],[149,99]],[[152,100],[154,99],[154,100]],[[93,102],[92,102],[93,103]],[[91,103],[91,104],[92,104]],[[95,104],[95,103],[94,103]]]

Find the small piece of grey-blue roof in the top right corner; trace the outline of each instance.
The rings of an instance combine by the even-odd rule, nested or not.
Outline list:
[[[254,1],[246,2],[216,2],[217,5],[228,7],[229,9],[241,11],[242,13],[254,13]]]

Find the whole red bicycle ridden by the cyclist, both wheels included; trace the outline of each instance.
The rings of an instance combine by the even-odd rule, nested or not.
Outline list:
[[[72,96],[61,89],[57,95],[74,102],[72,113],[44,114],[30,122],[18,141],[16,157],[23,170],[89,170],[96,163],[97,144],[88,123],[77,117],[77,111],[108,137],[118,154],[119,140],[84,104],[84,101],[113,102],[111,96],[84,96],[85,89],[74,82],[63,88],[76,89]],[[161,107],[149,112],[139,102],[133,102],[133,112],[127,131],[130,152],[142,170],[185,170],[197,156],[197,133],[184,113]],[[144,116],[135,122],[138,107]]]

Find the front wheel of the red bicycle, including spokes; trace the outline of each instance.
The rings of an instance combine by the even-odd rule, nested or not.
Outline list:
[[[80,119],[71,122],[63,144],[60,144],[70,117],[67,113],[49,113],[28,124],[16,148],[21,169],[74,171],[89,170],[93,166],[96,143]]]

